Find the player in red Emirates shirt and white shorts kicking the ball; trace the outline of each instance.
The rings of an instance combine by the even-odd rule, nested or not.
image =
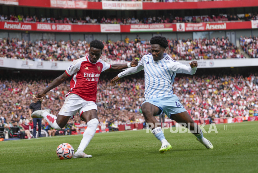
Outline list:
[[[115,72],[138,65],[137,59],[127,64],[109,65],[99,59],[103,48],[104,44],[101,41],[94,40],[90,42],[88,56],[73,61],[61,76],[57,77],[47,88],[35,96],[36,99],[41,99],[48,91],[60,85],[68,77],[73,76],[70,91],[66,95],[58,117],[51,115],[50,109],[37,110],[31,114],[31,117],[44,118],[51,127],[61,130],[67,124],[69,118],[73,118],[79,112],[81,119],[87,123],[87,129],[83,133],[83,138],[74,154],[74,158],[92,157],[83,151],[93,138],[99,124],[96,97],[100,73],[103,71]]]

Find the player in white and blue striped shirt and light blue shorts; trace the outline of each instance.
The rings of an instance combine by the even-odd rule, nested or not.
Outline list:
[[[117,81],[124,76],[140,72],[145,72],[145,101],[141,105],[142,113],[147,123],[158,123],[154,116],[163,112],[178,123],[190,123],[188,129],[193,130],[196,139],[206,148],[213,148],[213,145],[203,137],[199,126],[194,123],[191,116],[180,103],[178,97],[173,94],[173,82],[176,73],[195,74],[197,62],[192,61],[190,66],[174,61],[168,54],[164,54],[168,47],[168,41],[165,37],[154,36],[150,39],[151,54],[146,54],[141,58],[137,67],[128,68],[119,73],[112,79],[111,84],[115,86]],[[187,124],[188,125],[188,124]],[[165,139],[160,125],[155,124],[152,133],[161,141],[159,152],[163,153],[172,147]]]

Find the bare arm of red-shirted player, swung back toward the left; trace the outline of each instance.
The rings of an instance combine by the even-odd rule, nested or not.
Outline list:
[[[53,88],[57,87],[61,83],[63,83],[69,76],[64,72],[61,76],[55,78],[53,82],[50,83],[48,87],[46,87],[43,91],[39,92],[36,96],[35,99],[40,100],[42,97],[44,97],[48,91],[52,90]]]

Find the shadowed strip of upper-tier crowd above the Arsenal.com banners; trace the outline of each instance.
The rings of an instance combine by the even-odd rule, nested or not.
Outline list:
[[[179,22],[213,22],[213,21],[250,21],[257,20],[258,14],[221,14],[221,15],[212,15],[212,16],[173,16],[171,13],[168,16],[145,16],[143,18],[136,18],[134,16],[125,17],[125,18],[107,18],[107,17],[98,17],[92,18],[89,15],[85,17],[43,17],[43,16],[23,16],[22,14],[15,15],[0,15],[1,21],[19,21],[19,22],[48,22],[48,23],[76,23],[79,25],[82,24],[95,24],[95,23],[111,23],[111,24],[141,24],[141,23],[179,23]]]

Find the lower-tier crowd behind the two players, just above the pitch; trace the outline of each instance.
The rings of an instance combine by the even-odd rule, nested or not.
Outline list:
[[[104,73],[97,85],[98,118],[100,124],[107,124],[112,119],[114,124],[143,123],[141,103],[144,101],[144,78],[139,73],[137,77],[124,77],[116,87],[110,85],[108,80],[112,76]],[[0,80],[0,123],[6,128],[18,126],[25,131],[32,126],[30,121],[29,105],[32,97],[47,87],[53,79],[1,79]],[[241,117],[247,120],[250,116],[257,116],[258,109],[258,74],[248,77],[224,76],[180,76],[174,81],[174,93],[194,119]],[[53,115],[58,115],[69,91],[70,82],[67,80],[60,86],[49,91],[41,104],[42,109],[51,109]],[[158,117],[157,117],[158,119]],[[171,121],[167,116],[165,122]],[[74,124],[85,124],[77,115],[70,119],[68,127]],[[47,127],[43,120],[43,129]],[[74,128],[76,130],[76,128]],[[67,133],[67,131],[66,131]]]

